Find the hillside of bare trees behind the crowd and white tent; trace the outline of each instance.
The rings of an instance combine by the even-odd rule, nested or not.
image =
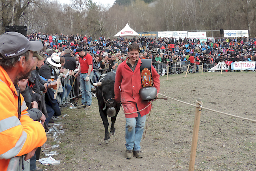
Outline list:
[[[256,0],[116,0],[104,7],[92,0],[1,0],[1,32],[7,25],[28,26],[28,33],[79,33],[111,37],[126,23],[135,31],[248,29],[256,35]],[[119,3],[124,5],[119,5]],[[13,10],[14,7],[14,10]],[[217,31],[213,36],[217,35]]]

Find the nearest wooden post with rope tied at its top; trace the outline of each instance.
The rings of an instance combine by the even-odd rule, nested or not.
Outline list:
[[[197,101],[201,102],[202,99],[198,98]],[[197,103],[196,105],[198,106],[199,103]],[[190,153],[190,160],[189,160],[189,169],[188,169],[189,171],[194,171],[194,167],[195,167],[195,159],[196,159],[196,153],[197,153],[197,139],[198,139],[201,110],[202,109],[200,107],[196,107],[193,137],[192,137],[192,143],[191,143],[191,153]]]

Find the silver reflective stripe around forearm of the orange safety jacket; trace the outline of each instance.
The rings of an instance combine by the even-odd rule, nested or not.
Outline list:
[[[9,159],[12,157],[17,156],[20,153],[20,150],[22,149],[24,143],[26,142],[27,139],[27,133],[25,131],[22,131],[22,136],[20,136],[19,140],[17,141],[15,147],[10,149],[4,154],[0,155],[0,159]]]

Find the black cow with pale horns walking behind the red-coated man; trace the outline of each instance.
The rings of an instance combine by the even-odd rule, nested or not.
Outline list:
[[[110,136],[108,132],[108,118],[111,117],[110,133],[115,135],[115,120],[120,110],[121,104],[115,101],[115,73],[109,72],[100,76],[98,83],[92,83],[96,88],[96,96],[98,99],[98,106],[100,111],[100,117],[105,127],[105,143],[110,142]]]

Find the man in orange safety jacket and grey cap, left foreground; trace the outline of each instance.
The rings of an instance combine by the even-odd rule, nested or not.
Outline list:
[[[0,35],[1,171],[6,171],[8,165],[13,168],[13,163],[9,162],[16,156],[20,158],[18,160],[21,161],[22,169],[29,170],[26,160],[34,155],[37,147],[46,142],[43,125],[29,117],[24,97],[17,85],[19,80],[30,77],[34,64],[33,51],[42,48],[42,42],[30,42],[17,32]]]

